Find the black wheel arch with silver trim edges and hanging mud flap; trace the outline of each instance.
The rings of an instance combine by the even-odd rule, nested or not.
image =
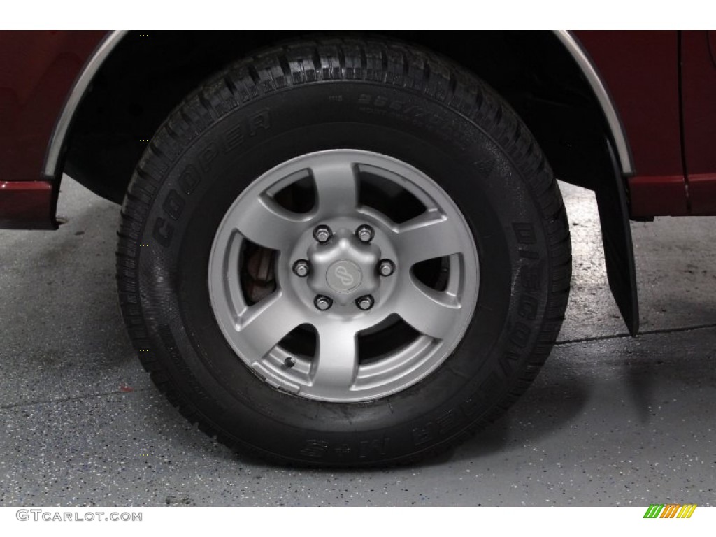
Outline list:
[[[557,178],[594,190],[609,283],[631,332],[637,290],[626,132],[606,84],[569,32],[380,32],[450,57],[516,110]],[[113,32],[77,80],[47,152],[45,173],[67,173],[122,201],[132,171],[169,112],[203,79],[253,50],[301,32]],[[64,151],[63,151],[64,149]],[[611,261],[610,261],[611,260]]]

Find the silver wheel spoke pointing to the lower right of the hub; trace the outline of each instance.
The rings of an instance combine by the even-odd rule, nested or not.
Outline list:
[[[458,320],[460,303],[411,277],[402,287],[396,313],[417,332],[442,339]]]

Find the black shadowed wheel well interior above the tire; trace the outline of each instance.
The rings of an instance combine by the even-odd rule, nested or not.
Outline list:
[[[64,172],[120,203],[146,140],[203,79],[304,33],[130,32],[77,111]],[[558,178],[594,190],[614,180],[594,164],[605,161],[609,137],[599,103],[552,32],[380,33],[450,57],[493,86],[526,122]]]

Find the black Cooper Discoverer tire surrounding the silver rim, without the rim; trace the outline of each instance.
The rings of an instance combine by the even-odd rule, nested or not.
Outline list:
[[[424,171],[462,211],[480,256],[475,313],[450,357],[367,402],[264,382],[227,344],[206,284],[216,229],[252,180],[338,147]],[[473,74],[385,41],[299,42],[203,84],[137,165],[117,248],[122,313],[159,389],[226,445],[301,465],[406,463],[493,422],[551,351],[570,276],[561,194],[521,120]]]

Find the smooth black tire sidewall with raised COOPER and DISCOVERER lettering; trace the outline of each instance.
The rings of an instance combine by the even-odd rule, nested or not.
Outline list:
[[[489,420],[541,332],[549,272],[529,178],[497,137],[405,89],[325,82],[228,112],[163,163],[137,266],[142,314],[151,352],[201,421],[284,460],[352,464],[417,455]],[[478,304],[453,354],[407,390],[370,402],[270,387],[236,357],[208,297],[213,237],[238,195],[275,165],[337,148],[390,155],[435,180],[465,216],[480,261]]]

